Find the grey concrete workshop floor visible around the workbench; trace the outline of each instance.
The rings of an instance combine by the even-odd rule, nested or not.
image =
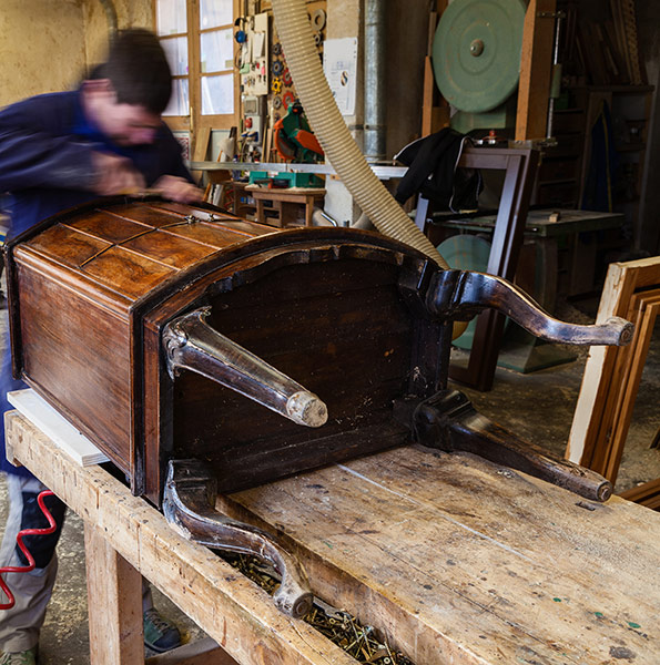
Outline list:
[[[595,304],[582,310],[569,307],[563,318],[587,323]],[[6,324],[0,334],[6,334]],[[656,335],[636,407],[631,433],[621,463],[618,491],[660,477],[660,449],[649,444],[659,426],[660,335]],[[529,375],[498,368],[495,388],[487,393],[468,391],[475,406],[500,424],[556,453],[562,453],[583,372],[586,352],[573,362]],[[7,514],[4,480],[0,479],[0,528]],[[68,516],[59,546],[60,574],[41,636],[41,665],[89,664],[84,549],[81,520]],[[183,627],[186,640],[201,631],[161,594],[154,594],[163,614]]]

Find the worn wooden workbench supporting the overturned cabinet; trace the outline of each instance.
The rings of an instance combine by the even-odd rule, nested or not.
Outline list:
[[[355,663],[101,468],[77,466],[16,412],[7,432],[10,454],[85,521],[90,611],[102,616],[90,623],[111,654],[92,654],[94,665],[142,663],[133,567],[243,665]],[[469,454],[413,447],[219,508],[286,534],[315,594],[416,665],[660,663],[660,515],[621,499],[593,504]],[[94,582],[94,571],[129,582]],[[186,662],[229,662],[214,657]]]

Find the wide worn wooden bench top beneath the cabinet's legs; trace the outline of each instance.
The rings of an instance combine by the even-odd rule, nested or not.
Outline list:
[[[473,456],[413,447],[220,508],[286,534],[322,597],[382,626],[418,664],[600,663],[621,644],[656,659],[658,644],[630,625],[660,620],[644,579],[658,580],[660,519],[620,499],[591,504]]]

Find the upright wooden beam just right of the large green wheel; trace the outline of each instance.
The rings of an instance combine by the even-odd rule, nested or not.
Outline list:
[[[525,14],[516,141],[544,139],[548,126],[548,101],[552,76],[556,0],[531,0]]]

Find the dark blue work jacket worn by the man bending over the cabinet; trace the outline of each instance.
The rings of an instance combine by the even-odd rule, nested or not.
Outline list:
[[[55,213],[97,198],[91,191],[93,151],[129,157],[148,187],[163,175],[192,181],[181,146],[164,123],[153,144],[120,147],[85,117],[81,95],[80,90],[43,94],[0,111],[0,195],[8,194],[9,237]],[[12,408],[7,392],[26,387],[12,378],[10,352],[4,346],[0,413]],[[0,469],[30,475],[7,461],[1,423]]]

